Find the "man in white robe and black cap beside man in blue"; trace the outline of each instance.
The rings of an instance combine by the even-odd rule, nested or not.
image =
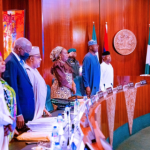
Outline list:
[[[102,53],[102,63],[101,63],[101,80],[100,89],[105,91],[107,88],[112,87],[114,83],[114,70],[111,62],[110,52],[106,51]]]

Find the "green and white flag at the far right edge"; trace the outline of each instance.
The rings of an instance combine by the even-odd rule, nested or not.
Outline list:
[[[150,27],[149,27],[149,38],[148,38],[148,46],[147,46],[145,74],[150,74]]]

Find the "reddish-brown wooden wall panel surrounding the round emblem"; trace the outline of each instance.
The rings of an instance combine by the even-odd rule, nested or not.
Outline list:
[[[100,31],[103,48],[104,25],[108,22],[109,50],[115,75],[138,76],[144,73],[148,42],[148,0],[100,0]],[[137,38],[137,46],[128,56],[118,54],[113,47],[115,34],[131,30]]]

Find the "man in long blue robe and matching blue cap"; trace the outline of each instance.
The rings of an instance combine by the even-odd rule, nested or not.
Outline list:
[[[97,41],[88,42],[89,52],[85,55],[82,67],[83,85],[86,95],[95,95],[99,91],[100,84],[100,64],[96,56],[98,51]]]

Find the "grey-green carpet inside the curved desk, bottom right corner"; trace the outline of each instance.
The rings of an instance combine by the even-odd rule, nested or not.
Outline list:
[[[116,150],[150,150],[150,127],[129,137]]]

